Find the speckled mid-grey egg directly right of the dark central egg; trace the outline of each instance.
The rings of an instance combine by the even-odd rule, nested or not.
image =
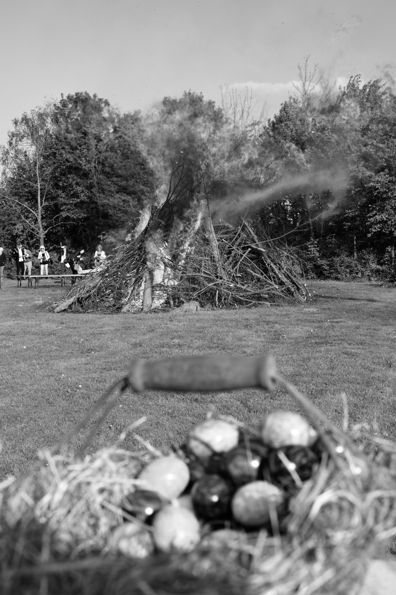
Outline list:
[[[252,481],[236,490],[231,502],[232,516],[245,528],[262,527],[284,502],[285,494],[279,487],[268,481]]]

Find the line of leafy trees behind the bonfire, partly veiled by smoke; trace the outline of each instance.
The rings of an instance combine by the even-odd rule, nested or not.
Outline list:
[[[79,92],[15,118],[0,155],[1,245],[112,249],[145,212],[177,234],[199,204],[211,229],[258,218],[308,277],[394,277],[396,96],[360,76],[332,89],[308,60],[299,73],[269,119],[228,91],[220,106],[189,91],[147,114]]]

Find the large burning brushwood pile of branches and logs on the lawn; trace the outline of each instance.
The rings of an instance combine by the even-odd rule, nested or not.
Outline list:
[[[120,246],[111,264],[76,283],[55,312],[139,312],[191,300],[202,308],[239,308],[310,298],[297,257],[271,239],[260,221],[222,224],[213,233],[216,238],[208,241],[200,229],[181,249],[180,238],[164,241],[158,231],[146,230]],[[154,257],[148,257],[148,245],[156,246]]]

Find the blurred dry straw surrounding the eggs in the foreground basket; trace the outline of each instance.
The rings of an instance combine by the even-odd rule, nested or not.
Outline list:
[[[272,365],[269,359],[266,365]],[[323,446],[319,468],[291,498],[286,519],[272,519],[272,535],[239,531],[219,543],[209,533],[191,553],[128,558],[114,551],[111,536],[124,519],[131,520],[123,500],[139,485],[142,466],[161,453],[149,444],[127,452],[122,449],[123,434],[110,448],[68,458],[55,454],[63,440],[43,453],[29,474],[2,486],[1,593],[360,593],[369,560],[392,558],[396,445],[376,439],[373,447],[364,427],[350,433],[338,430],[275,368],[269,375],[303,408]],[[89,416],[99,408],[108,411],[128,384],[126,377],[113,385]],[[142,421],[129,431],[135,432]],[[369,448],[364,446],[369,443]]]

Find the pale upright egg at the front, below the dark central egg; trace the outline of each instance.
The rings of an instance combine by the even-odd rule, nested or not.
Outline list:
[[[167,505],[152,522],[155,545],[161,552],[191,552],[201,538],[197,517],[186,508]]]

